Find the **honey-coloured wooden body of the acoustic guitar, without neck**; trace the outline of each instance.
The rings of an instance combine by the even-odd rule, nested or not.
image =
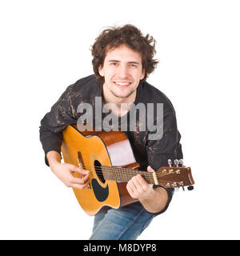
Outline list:
[[[81,162],[83,169],[90,170],[90,185],[82,190],[73,189],[86,214],[97,214],[102,206],[117,209],[137,201],[130,197],[126,182],[105,180],[101,171],[101,166],[138,168],[126,134],[122,131],[80,132],[74,125],[67,126],[62,135],[64,162],[74,166]],[[74,176],[78,177],[78,174]]]

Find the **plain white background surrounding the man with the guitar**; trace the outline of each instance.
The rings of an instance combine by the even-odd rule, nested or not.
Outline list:
[[[157,40],[148,82],[174,104],[194,190],[139,239],[239,239],[238,1],[1,1],[0,238],[88,239],[93,217],[45,165],[39,122],[92,74],[90,46],[131,23]]]

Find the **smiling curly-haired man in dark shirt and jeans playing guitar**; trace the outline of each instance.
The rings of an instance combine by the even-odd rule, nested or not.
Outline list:
[[[141,103],[147,108],[147,104],[154,104],[154,109],[146,111],[143,119],[142,114],[138,114],[135,120],[136,130],[130,129],[132,120],[126,122],[127,129],[124,130],[141,166],[140,170],[154,172],[159,167],[166,166],[167,159],[173,161],[182,158],[174,108],[165,94],[146,82],[158,63],[154,60],[154,47],[154,38],[148,34],[144,37],[135,26],[104,30],[92,46],[94,75],[69,86],[50,112],[42,118],[40,139],[46,154],[46,164],[66,186],[80,190],[85,188],[89,183],[89,171],[61,162],[62,130],[67,125],[78,122],[81,116],[78,113],[80,104],[87,102],[93,108],[96,107],[96,97],[102,97],[102,104],[119,120],[129,120],[126,117],[129,118],[133,105]],[[109,103],[114,103],[115,107],[109,107]],[[159,114],[157,103],[163,104],[163,114],[161,111]],[[149,116],[152,118],[152,126],[143,129],[142,123],[146,122],[142,120]],[[105,114],[102,113],[102,119],[105,117],[106,111]],[[97,118],[95,116],[94,121]],[[162,125],[158,122],[161,118]],[[158,133],[160,128],[161,136]],[[85,175],[83,178],[75,178],[74,172]],[[173,194],[172,189],[148,184],[139,174],[127,182],[126,189],[138,202],[117,210],[103,207],[94,217],[90,239],[138,238],[152,219],[167,209]]]

